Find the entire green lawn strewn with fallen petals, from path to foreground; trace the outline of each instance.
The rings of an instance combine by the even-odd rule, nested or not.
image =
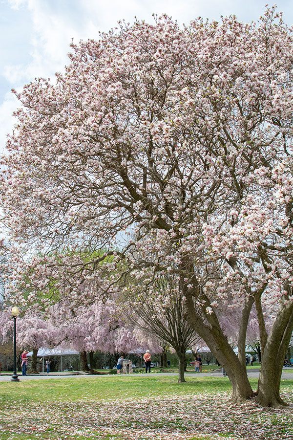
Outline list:
[[[251,380],[256,388],[256,379]],[[293,404],[293,381],[282,380]],[[227,377],[72,377],[0,383],[0,439],[214,440],[293,435],[292,406],[230,402]],[[265,437],[264,437],[265,435]]]

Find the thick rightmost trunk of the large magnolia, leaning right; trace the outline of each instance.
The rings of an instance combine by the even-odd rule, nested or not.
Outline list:
[[[293,330],[293,305],[284,306],[277,314],[263,350],[256,400],[262,406],[287,405],[280,397],[283,362]]]

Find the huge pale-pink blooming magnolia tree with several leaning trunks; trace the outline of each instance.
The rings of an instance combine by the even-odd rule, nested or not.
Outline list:
[[[245,340],[255,303],[257,398],[282,405],[272,353],[283,357],[293,327],[290,29],[275,8],[258,24],[198,19],[181,29],[162,17],[72,50],[55,85],[38,79],[16,93],[22,108],[2,173],[12,239],[44,252],[125,241],[105,264],[107,253],[55,262],[60,283],[69,273],[97,277],[105,292],[129,271],[137,280],[151,272],[149,283],[175,271],[188,322],[225,367],[235,400],[254,396]],[[56,270],[50,258],[42,288]],[[225,301],[243,309],[239,358],[219,321]],[[266,302],[277,309],[270,334]]]

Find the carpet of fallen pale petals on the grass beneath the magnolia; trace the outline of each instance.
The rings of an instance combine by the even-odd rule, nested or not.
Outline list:
[[[1,408],[0,439],[293,439],[293,391],[285,409],[233,405],[230,393]]]

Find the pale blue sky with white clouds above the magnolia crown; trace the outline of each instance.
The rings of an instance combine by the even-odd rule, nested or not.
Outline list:
[[[261,0],[0,0],[0,151],[11,132],[18,107],[11,88],[21,90],[35,77],[53,78],[68,63],[73,39],[99,38],[99,31],[134,17],[152,22],[167,13],[179,23],[198,16],[219,20],[235,14],[257,21],[267,1]],[[271,5],[272,3],[270,3]],[[284,21],[293,23],[293,0],[279,0]]]

